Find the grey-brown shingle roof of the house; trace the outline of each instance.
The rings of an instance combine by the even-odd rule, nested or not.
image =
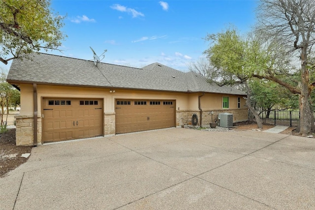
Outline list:
[[[245,95],[230,87],[209,84],[193,72],[184,73],[160,63],[133,68],[50,54],[34,54],[32,60],[13,60],[7,81],[67,86],[212,92]]]

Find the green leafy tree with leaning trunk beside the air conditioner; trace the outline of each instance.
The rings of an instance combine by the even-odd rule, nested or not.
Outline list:
[[[252,90],[248,85],[253,68],[257,69],[263,63],[260,49],[254,41],[242,39],[234,28],[208,34],[205,39],[211,42],[211,46],[204,54],[217,72],[213,81],[220,86],[243,84],[247,92],[246,106],[252,111],[258,128],[262,128],[261,119],[252,106]]]

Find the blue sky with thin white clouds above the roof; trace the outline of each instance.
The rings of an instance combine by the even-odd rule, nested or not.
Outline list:
[[[66,15],[63,52],[50,54],[143,67],[160,62],[188,71],[209,43],[207,33],[229,24],[241,33],[255,23],[255,0],[52,0],[54,13]],[[9,68],[5,66],[5,68]]]

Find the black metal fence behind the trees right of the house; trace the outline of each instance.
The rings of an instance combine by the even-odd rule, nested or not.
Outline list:
[[[259,117],[266,124],[284,125],[297,127],[300,121],[300,112],[298,110],[271,110],[260,112]],[[255,121],[252,112],[249,110],[248,119]]]

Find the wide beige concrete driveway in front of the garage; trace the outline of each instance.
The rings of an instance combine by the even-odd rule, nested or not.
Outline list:
[[[315,140],[185,128],[33,148],[1,210],[315,209]]]

